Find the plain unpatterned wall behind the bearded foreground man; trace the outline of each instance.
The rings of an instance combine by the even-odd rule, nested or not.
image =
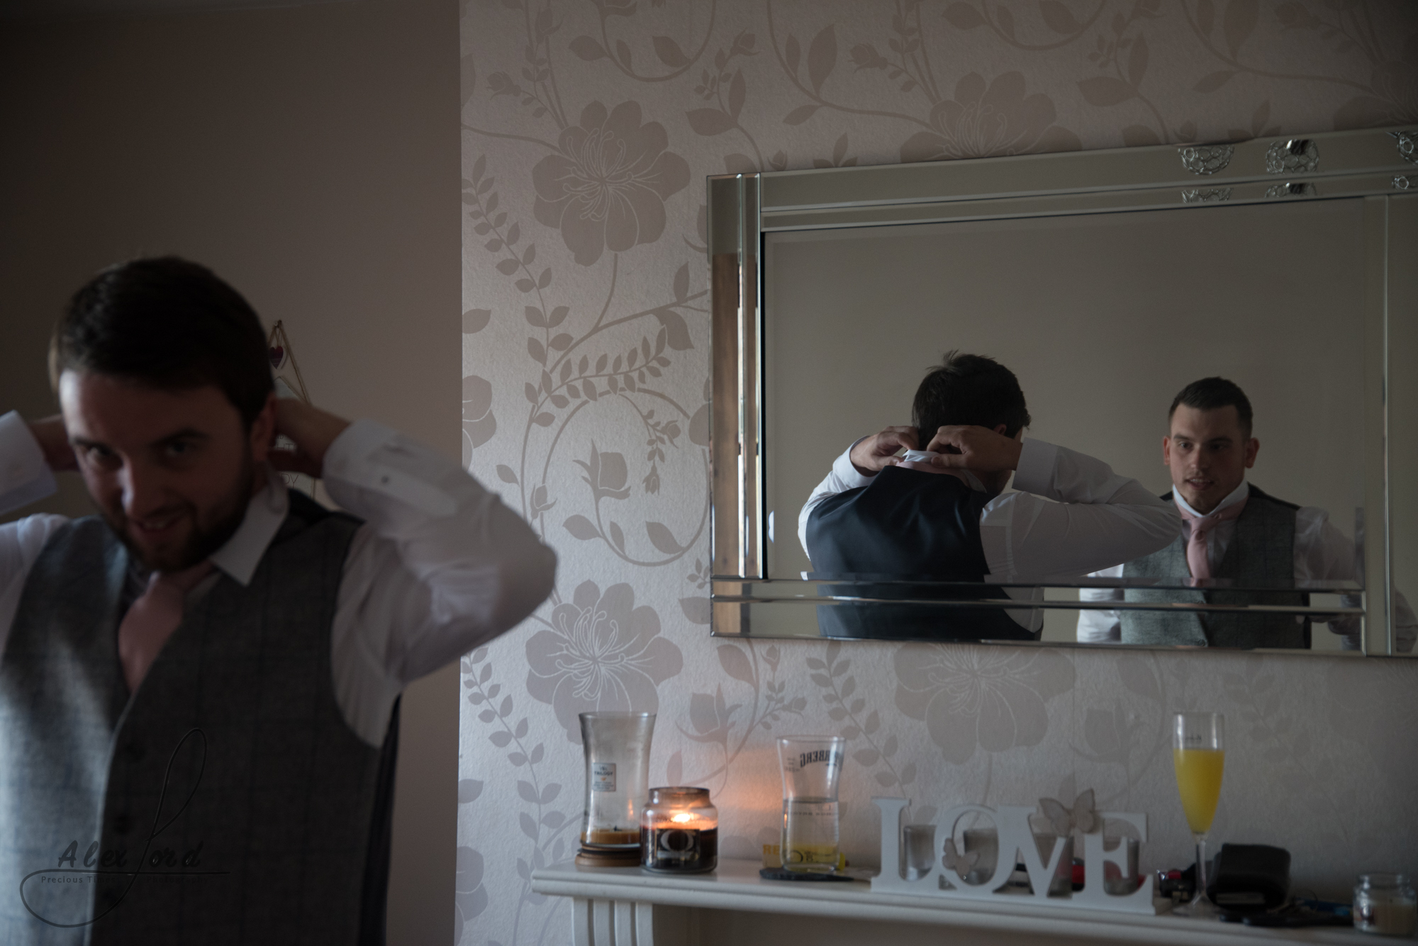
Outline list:
[[[0,411],[54,411],[88,276],[173,252],[285,321],[319,406],[459,456],[457,96],[454,0],[0,21]],[[65,479],[16,514],[86,513]],[[390,943],[452,939],[457,700],[455,666],[404,694]]]

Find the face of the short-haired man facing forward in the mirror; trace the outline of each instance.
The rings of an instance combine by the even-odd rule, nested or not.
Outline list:
[[[1161,439],[1171,484],[1191,508],[1207,514],[1241,486],[1261,442],[1248,438],[1235,406],[1198,411],[1178,404]]]

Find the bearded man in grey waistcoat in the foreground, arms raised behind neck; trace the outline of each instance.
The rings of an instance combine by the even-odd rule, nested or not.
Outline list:
[[[398,694],[554,555],[458,463],[278,399],[196,263],[99,273],[51,377],[61,415],[0,416],[0,510],[77,470],[99,514],[0,525],[0,943],[381,943]]]

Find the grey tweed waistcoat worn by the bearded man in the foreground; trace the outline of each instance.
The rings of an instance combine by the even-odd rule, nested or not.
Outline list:
[[[357,527],[292,491],[132,697],[126,549],[95,517],[50,538],[0,659],[0,942],[383,942],[397,705],[369,746],[330,674]]]

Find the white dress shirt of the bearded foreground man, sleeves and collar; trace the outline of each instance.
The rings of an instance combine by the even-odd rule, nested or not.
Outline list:
[[[349,726],[380,746],[404,685],[506,630],[495,620],[499,605],[550,588],[556,555],[455,462],[373,421],[356,421],[335,439],[323,481],[336,503],[364,520],[336,598],[335,695]],[[28,425],[16,412],[0,416],[0,511],[54,489]],[[285,483],[268,469],[237,532],[213,554],[216,571],[189,602],[217,582],[217,572],[248,583],[286,508]],[[30,568],[67,521],[30,515],[0,525],[0,654]]]

